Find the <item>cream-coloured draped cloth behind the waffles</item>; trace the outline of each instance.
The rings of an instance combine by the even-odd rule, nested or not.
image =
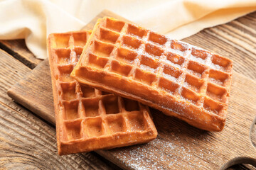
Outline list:
[[[49,33],[80,30],[103,9],[181,39],[255,11],[256,0],[0,0],[0,39],[25,38],[45,59]]]

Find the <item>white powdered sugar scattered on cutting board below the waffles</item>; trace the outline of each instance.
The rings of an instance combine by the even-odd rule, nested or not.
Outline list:
[[[161,134],[146,145],[129,147],[118,152],[118,157],[132,169],[207,169],[207,162],[215,162],[214,153],[198,147],[201,135],[181,139],[183,132]],[[171,140],[170,140],[171,139]],[[201,139],[202,140],[202,139]],[[203,137],[203,142],[212,140]],[[184,142],[183,142],[184,141]],[[209,157],[209,155],[211,155]]]

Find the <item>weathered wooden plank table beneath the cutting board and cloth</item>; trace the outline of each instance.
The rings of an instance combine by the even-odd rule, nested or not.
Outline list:
[[[255,23],[256,12],[202,30],[185,41],[199,47],[207,45],[207,50],[231,57],[236,72],[255,80]],[[218,46],[220,41],[226,42],[227,47]],[[0,169],[119,169],[95,152],[58,156],[55,128],[12,101],[6,94],[13,84],[42,60],[33,56],[24,40],[0,40],[0,48]],[[255,137],[252,136],[253,143],[256,143]],[[230,169],[255,168],[242,164]]]

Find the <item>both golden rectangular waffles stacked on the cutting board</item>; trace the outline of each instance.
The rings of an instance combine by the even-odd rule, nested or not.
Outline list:
[[[107,17],[91,35],[50,35],[48,54],[60,154],[153,140],[147,106],[203,130],[223,130],[228,58]]]

